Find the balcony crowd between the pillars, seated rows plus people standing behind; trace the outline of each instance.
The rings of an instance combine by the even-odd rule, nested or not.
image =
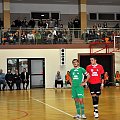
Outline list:
[[[72,34],[63,28],[58,20],[34,19],[29,22],[19,18],[12,22],[11,28],[2,31],[2,44],[68,44],[72,43]]]

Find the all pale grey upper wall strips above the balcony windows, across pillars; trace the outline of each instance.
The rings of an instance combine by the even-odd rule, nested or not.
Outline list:
[[[30,13],[31,11],[60,11],[61,14],[78,14],[78,5],[62,4],[17,4],[11,3],[11,13]],[[90,12],[120,12],[120,6],[87,5],[87,13]],[[0,3],[2,13],[2,3]]]

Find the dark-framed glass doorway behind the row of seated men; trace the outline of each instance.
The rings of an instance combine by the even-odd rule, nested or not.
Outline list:
[[[7,70],[14,74],[17,69],[19,74],[23,69],[30,75],[30,88],[45,88],[45,59],[44,58],[8,58]]]

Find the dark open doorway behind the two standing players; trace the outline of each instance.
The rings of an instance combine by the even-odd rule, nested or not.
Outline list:
[[[104,68],[105,72],[108,72],[109,75],[109,81],[114,81],[114,73],[115,73],[115,55],[114,53],[111,54],[96,54],[92,55],[97,58],[97,63],[101,64]],[[90,54],[79,54],[79,61],[80,66],[83,68],[86,68],[87,65],[90,64]]]

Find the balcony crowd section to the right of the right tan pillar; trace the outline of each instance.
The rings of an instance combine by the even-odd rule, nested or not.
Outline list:
[[[119,23],[116,23],[114,27],[109,27],[107,22],[95,24],[88,28],[83,36],[88,41],[112,42],[114,36],[120,36]]]

